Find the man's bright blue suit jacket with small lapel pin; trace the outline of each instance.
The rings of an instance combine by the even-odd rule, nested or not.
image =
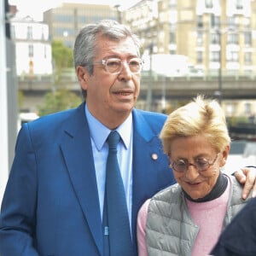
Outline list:
[[[175,180],[158,138],[166,115],[136,109],[132,114],[131,226],[136,248],[139,207]],[[23,125],[3,197],[0,255],[94,256],[102,255],[102,250],[102,221],[84,104]]]

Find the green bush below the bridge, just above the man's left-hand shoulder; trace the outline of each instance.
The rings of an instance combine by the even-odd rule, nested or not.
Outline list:
[[[44,103],[38,106],[38,115],[59,112],[68,108],[76,108],[82,102],[82,98],[69,90],[56,90],[45,94]]]

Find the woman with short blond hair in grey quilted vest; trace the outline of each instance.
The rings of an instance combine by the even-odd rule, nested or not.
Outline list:
[[[236,178],[221,172],[230,151],[224,112],[197,96],[168,116],[160,138],[177,184],[141,207],[139,255],[205,256],[246,203]]]

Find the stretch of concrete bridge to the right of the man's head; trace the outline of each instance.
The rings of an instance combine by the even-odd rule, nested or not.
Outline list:
[[[152,86],[152,95],[166,99],[188,99],[198,93],[206,96],[219,96],[223,99],[256,99],[256,77],[225,76],[219,88],[218,76],[152,77],[142,78],[141,96],[145,97]],[[221,90],[221,91],[220,91]]]

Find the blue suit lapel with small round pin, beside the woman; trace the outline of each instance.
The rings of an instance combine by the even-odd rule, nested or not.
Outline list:
[[[154,190],[158,179],[157,170],[159,170],[160,162],[163,161],[165,156],[159,138],[148,125],[143,114],[133,110],[133,120],[132,227],[135,228],[132,230],[132,234],[133,237],[136,237],[137,212],[143,202],[157,192],[157,190]]]

